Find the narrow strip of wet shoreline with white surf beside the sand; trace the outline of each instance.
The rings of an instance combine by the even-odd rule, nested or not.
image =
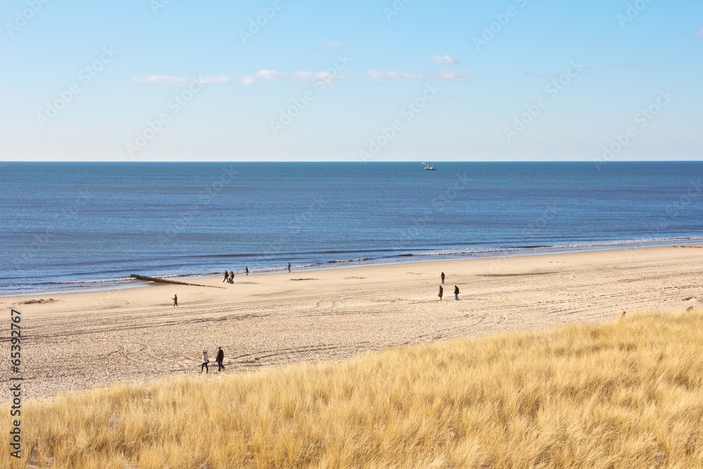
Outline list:
[[[389,261],[370,261],[370,262],[349,262],[347,261],[330,261],[327,264],[315,264],[315,265],[305,265],[305,266],[292,266],[293,271],[299,272],[315,272],[315,271],[326,271],[333,269],[354,269],[355,267],[366,267],[366,266],[385,266],[385,265],[396,265],[396,264],[413,264],[413,263],[423,263],[423,262],[453,262],[457,260],[470,260],[470,259],[501,259],[505,257],[522,257],[522,256],[539,256],[539,255],[551,255],[551,254],[568,254],[570,252],[600,252],[609,250],[633,250],[633,249],[647,249],[647,248],[666,248],[676,245],[703,245],[703,237],[681,237],[681,238],[668,238],[666,240],[660,240],[652,242],[652,240],[622,240],[622,241],[602,241],[600,243],[583,243],[583,245],[544,245],[544,246],[534,246],[534,247],[520,247],[520,248],[484,248],[486,251],[483,252],[473,252],[464,255],[457,254],[447,254],[447,255],[408,255],[407,259],[394,259]],[[442,250],[434,250],[434,252],[441,252]],[[432,251],[430,251],[432,252]],[[442,257],[445,256],[445,257]],[[428,259],[422,259],[421,257],[429,257]],[[438,259],[437,257],[441,257]],[[339,264],[335,265],[335,262]],[[262,276],[262,275],[275,275],[275,274],[286,274],[288,273],[283,267],[276,268],[264,268],[250,269],[250,276]],[[141,272],[133,272],[131,274],[144,275]],[[134,288],[143,288],[149,286],[150,283],[134,280],[127,276],[120,276],[115,279],[111,278],[96,278],[96,279],[79,279],[75,281],[61,281],[60,283],[107,283],[103,287],[83,287],[83,288],[67,288],[65,290],[37,290],[31,293],[0,293],[0,299],[8,297],[29,297],[37,295],[65,295],[72,293],[91,293],[91,292],[101,292],[101,291],[111,291],[111,290],[132,290]],[[221,276],[221,272],[215,274],[165,274],[165,275],[155,275],[148,274],[148,276],[165,278],[169,280],[183,280],[188,278],[217,278]],[[245,276],[244,271],[235,271],[236,276]]]

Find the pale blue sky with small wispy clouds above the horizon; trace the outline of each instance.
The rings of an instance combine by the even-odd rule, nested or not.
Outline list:
[[[699,0],[8,0],[0,20],[1,160],[703,150]]]

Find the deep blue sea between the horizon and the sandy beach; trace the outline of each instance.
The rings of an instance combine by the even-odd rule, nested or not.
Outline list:
[[[703,162],[0,165],[0,295],[703,240]]]

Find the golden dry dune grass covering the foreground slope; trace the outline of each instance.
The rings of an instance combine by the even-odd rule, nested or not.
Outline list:
[[[692,311],[120,385],[23,403],[22,464],[703,468],[702,352]]]

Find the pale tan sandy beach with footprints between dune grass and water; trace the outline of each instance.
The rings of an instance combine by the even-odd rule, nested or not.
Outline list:
[[[0,297],[0,307],[22,313],[25,397],[51,397],[198,373],[202,350],[212,360],[218,346],[226,354],[224,373],[235,373],[403,344],[609,321],[623,311],[685,311],[703,302],[702,271],[703,246],[689,245],[294,270],[237,276],[234,285],[198,278],[193,282],[220,288],[150,285]],[[460,301],[453,299],[454,285]],[[170,300],[174,293],[178,309]],[[9,330],[9,314],[6,319]],[[212,377],[217,364],[210,365]],[[0,374],[5,379],[8,371]]]

